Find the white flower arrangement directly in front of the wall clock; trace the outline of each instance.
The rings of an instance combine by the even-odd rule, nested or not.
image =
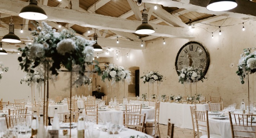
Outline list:
[[[202,68],[183,66],[178,72],[180,73],[178,78],[181,84],[184,84],[184,82],[197,82],[199,80],[203,82],[203,79],[205,78]]]

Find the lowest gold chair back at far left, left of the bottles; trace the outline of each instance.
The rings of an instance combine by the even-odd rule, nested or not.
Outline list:
[[[31,124],[32,114],[5,115],[7,129],[16,127],[19,123]]]

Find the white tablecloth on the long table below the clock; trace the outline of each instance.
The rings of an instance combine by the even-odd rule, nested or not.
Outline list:
[[[168,119],[175,127],[193,129],[190,106],[193,104],[160,103],[159,123],[167,125]],[[197,110],[209,110],[208,104],[197,104]]]

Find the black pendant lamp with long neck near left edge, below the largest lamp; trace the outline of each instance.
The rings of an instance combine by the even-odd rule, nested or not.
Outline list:
[[[13,19],[11,16],[11,20],[9,23],[9,33],[4,35],[2,38],[3,42],[8,42],[8,43],[20,43],[21,39],[17,35],[14,34],[14,24],[13,24]]]

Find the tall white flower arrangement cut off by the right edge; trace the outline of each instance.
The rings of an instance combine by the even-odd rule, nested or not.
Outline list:
[[[252,49],[254,52],[251,53]],[[256,48],[243,49],[243,52],[244,53],[240,55],[241,58],[238,63],[238,71],[236,72],[240,77],[241,84],[244,84],[243,79],[248,72],[251,74],[256,72]]]

